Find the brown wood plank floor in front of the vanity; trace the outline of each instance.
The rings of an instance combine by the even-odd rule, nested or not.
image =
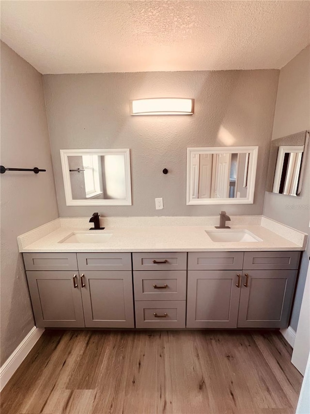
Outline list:
[[[1,414],[294,414],[291,354],[277,331],[45,331]]]

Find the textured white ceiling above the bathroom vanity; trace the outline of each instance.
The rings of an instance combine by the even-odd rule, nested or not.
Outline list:
[[[269,69],[310,43],[310,1],[1,1],[39,72]]]

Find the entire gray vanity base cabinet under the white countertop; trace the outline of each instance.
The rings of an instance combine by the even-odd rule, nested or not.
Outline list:
[[[24,253],[42,328],[134,328],[133,287],[137,328],[286,328],[299,258],[189,252],[187,265],[186,252]]]

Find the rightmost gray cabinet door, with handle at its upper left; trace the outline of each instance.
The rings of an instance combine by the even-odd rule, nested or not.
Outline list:
[[[297,270],[244,270],[238,328],[287,328],[296,276]]]

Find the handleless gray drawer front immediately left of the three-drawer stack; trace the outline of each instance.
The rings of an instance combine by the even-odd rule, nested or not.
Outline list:
[[[79,270],[131,270],[130,253],[78,253]]]

